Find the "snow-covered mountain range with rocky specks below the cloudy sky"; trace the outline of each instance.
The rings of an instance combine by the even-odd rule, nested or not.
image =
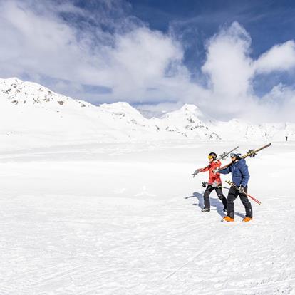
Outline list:
[[[253,125],[219,122],[195,105],[162,118],[145,118],[128,103],[95,106],[18,78],[0,79],[0,140],[28,146],[126,140],[284,140],[295,138],[291,123]]]

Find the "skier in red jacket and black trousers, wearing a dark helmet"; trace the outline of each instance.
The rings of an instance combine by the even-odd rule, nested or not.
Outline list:
[[[200,172],[209,171],[209,181],[208,185],[206,187],[206,190],[204,192],[204,208],[201,210],[201,212],[210,212],[210,199],[209,195],[213,190],[216,191],[217,196],[219,197],[219,200],[222,201],[222,204],[224,206],[223,211],[227,211],[227,199],[224,197],[222,193],[222,188],[219,187],[222,185],[222,181],[220,179],[219,173],[214,173],[213,171],[221,166],[221,162],[219,160],[215,161],[217,159],[217,155],[215,152],[210,152],[208,155],[209,159],[209,165],[203,169],[196,170],[196,174]]]

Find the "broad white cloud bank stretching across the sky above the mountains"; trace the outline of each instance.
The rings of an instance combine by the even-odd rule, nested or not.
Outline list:
[[[91,3],[82,9],[73,1],[0,1],[0,76],[94,103],[124,100],[149,110],[195,103],[218,119],[294,120],[291,87],[279,83],[262,98],[254,90],[257,76],[294,70],[293,40],[254,59],[244,27],[224,26],[207,40],[197,80],[175,33],[150,29],[130,15],[128,2]]]

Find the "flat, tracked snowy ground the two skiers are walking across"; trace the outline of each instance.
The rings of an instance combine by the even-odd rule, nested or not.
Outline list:
[[[199,212],[207,173],[190,173],[235,145],[1,152],[0,294],[295,294],[295,143],[247,160],[253,222],[239,200],[220,222],[215,193]]]

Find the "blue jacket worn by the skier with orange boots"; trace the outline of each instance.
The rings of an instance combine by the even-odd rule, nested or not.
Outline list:
[[[237,162],[234,162],[229,167],[218,171],[220,174],[228,174],[232,172],[232,182],[234,182],[237,187],[242,185],[246,187],[248,184],[248,180],[250,178],[248,166],[244,159],[241,159]]]

